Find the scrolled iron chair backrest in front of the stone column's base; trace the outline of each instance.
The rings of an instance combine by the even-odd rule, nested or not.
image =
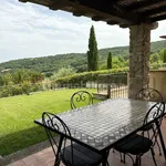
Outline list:
[[[139,90],[135,98],[141,101],[163,102],[162,94],[157,90],[151,87]]]

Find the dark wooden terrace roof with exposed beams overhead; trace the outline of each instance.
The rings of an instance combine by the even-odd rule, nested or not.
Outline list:
[[[19,0],[126,28],[166,19],[166,0]]]

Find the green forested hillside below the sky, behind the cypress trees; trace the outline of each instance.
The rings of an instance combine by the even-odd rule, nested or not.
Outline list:
[[[166,41],[152,42],[151,44],[151,63],[154,68],[160,64],[163,51],[166,49]],[[113,55],[113,69],[128,66],[128,46],[106,48],[98,50],[100,70],[106,69],[106,59],[108,53]],[[18,69],[34,70],[45,75],[52,75],[62,68],[71,66],[77,73],[87,71],[87,55],[86,53],[70,53],[48,55],[43,58],[30,58],[13,60],[0,63],[0,72],[15,71]]]

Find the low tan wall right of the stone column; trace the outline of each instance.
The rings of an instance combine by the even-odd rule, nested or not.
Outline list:
[[[158,90],[166,102],[166,70],[149,72],[149,87]]]

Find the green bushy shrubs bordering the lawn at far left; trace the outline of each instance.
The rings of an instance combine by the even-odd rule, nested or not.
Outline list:
[[[0,97],[19,94],[30,94],[30,92],[41,91],[40,82],[43,75],[32,70],[17,70],[13,73],[0,75]]]

